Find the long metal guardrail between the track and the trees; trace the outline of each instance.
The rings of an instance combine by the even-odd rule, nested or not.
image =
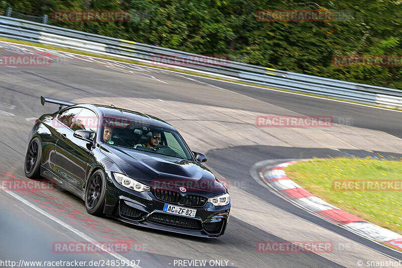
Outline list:
[[[167,61],[168,65],[181,66],[180,62],[190,60],[191,66],[186,66],[185,69],[219,74],[242,82],[296,92],[390,107],[402,107],[402,91],[398,89],[275,70],[229,60],[217,61],[213,57],[5,16],[0,16],[0,36],[63,46],[92,53],[129,57],[149,63],[155,63],[157,59],[163,59]],[[211,62],[214,63],[211,64]]]

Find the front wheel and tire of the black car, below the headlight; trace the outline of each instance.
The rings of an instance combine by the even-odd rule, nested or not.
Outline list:
[[[102,216],[105,206],[106,179],[102,170],[95,171],[88,180],[85,191],[86,211],[95,216]]]

